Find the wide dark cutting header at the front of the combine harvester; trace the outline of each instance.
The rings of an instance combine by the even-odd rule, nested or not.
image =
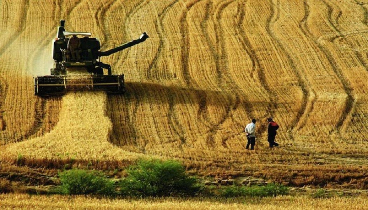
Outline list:
[[[35,95],[63,95],[75,90],[103,90],[123,93],[124,75],[61,75],[36,76]]]

